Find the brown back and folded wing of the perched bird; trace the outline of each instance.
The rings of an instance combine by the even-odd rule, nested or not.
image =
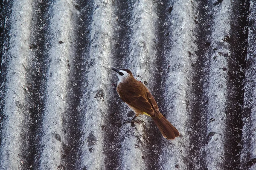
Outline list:
[[[150,116],[154,115],[154,110],[158,111],[157,102],[141,82],[125,83],[117,91],[124,102]]]

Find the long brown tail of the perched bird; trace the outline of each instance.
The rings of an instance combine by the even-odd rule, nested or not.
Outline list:
[[[155,111],[151,118],[154,120],[164,138],[175,139],[175,137],[180,135],[178,130],[159,111]]]

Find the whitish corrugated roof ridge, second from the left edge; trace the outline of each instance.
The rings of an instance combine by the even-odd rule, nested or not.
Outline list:
[[[71,16],[73,4],[70,0],[56,0],[52,4],[49,32],[51,48],[47,80],[47,100],[43,116],[41,159],[39,169],[57,170],[61,165],[61,147],[64,141],[63,121],[67,110],[67,81],[69,68],[67,60],[72,55]],[[64,43],[59,43],[62,41]]]

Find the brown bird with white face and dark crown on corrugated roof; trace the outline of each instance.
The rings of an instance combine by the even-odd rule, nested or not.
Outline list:
[[[130,70],[111,69],[119,78],[116,87],[117,94],[134,111],[136,116],[142,114],[150,116],[166,139],[175,139],[180,135],[178,130],[160,113],[157,102],[148,88],[136,80]]]

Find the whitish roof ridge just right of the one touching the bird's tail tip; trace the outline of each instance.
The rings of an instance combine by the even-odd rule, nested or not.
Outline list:
[[[206,164],[208,170],[222,169],[224,166],[224,139],[226,130],[226,104],[227,104],[227,59],[224,55],[230,56],[228,43],[224,42],[225,36],[230,32],[230,13],[232,10],[231,1],[223,0],[220,7],[216,8],[214,23],[212,25],[211,48],[212,53],[207,56],[206,65],[209,65],[209,84],[204,85],[204,94],[209,100],[207,106],[207,144],[205,146]],[[220,45],[220,43],[224,45]],[[208,87],[207,87],[208,86]],[[214,118],[215,121],[209,120]]]

